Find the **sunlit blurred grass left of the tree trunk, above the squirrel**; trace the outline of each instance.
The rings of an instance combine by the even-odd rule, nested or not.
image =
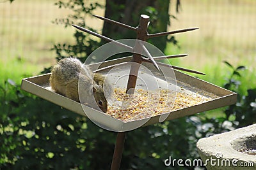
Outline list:
[[[13,1],[0,3],[0,84],[7,78],[21,82],[25,75],[36,75],[52,66],[56,43],[73,43],[73,27],[53,24],[65,18],[69,10],[58,8],[56,1]],[[86,3],[90,3],[87,2]],[[99,14],[103,15],[103,10]],[[85,18],[98,26],[95,19]]]

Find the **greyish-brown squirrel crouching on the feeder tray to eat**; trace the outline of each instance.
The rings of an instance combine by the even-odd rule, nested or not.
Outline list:
[[[95,109],[99,106],[100,110],[107,112],[108,102],[103,90],[105,76],[100,73],[95,73],[93,76],[90,68],[74,57],[61,59],[52,67],[51,72],[49,81],[52,90],[56,93]]]

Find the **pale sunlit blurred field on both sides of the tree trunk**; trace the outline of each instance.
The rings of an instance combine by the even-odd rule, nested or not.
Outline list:
[[[55,1],[14,1],[0,3],[1,31],[1,77],[7,77],[10,64],[17,64],[19,73],[37,74],[44,67],[55,62],[56,43],[74,43],[73,27],[63,27],[53,23],[65,18],[72,11],[58,8]],[[90,1],[86,1],[90,4]],[[102,6],[104,1],[100,1]],[[221,74],[222,60],[236,66],[244,64],[253,72],[255,63],[256,7],[255,1],[184,1],[179,13],[175,11],[175,1],[171,1],[171,18],[168,31],[186,27],[199,27],[199,30],[175,35],[180,48],[172,43],[166,48],[169,53],[188,53],[186,59],[175,60],[175,64],[205,71],[208,76]],[[97,8],[93,14],[104,16],[104,8]],[[103,22],[91,16],[84,16],[86,24],[102,31]],[[134,25],[136,26],[136,25]],[[125,37],[124,37],[125,38]],[[17,63],[22,60],[22,64]],[[220,66],[220,67],[219,67]],[[217,69],[217,71],[216,71]],[[217,72],[217,73],[216,73]],[[4,73],[4,74],[3,74]],[[15,74],[15,73],[14,73]],[[252,74],[251,74],[252,75]],[[12,76],[16,76],[13,75]],[[18,76],[17,76],[18,77]]]

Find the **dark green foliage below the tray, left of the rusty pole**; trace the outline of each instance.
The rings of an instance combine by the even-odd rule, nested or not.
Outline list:
[[[12,80],[1,94],[0,169],[104,169],[111,162],[112,132],[20,91]]]

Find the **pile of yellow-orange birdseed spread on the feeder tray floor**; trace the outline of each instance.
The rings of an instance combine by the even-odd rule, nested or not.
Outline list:
[[[211,97],[188,93],[184,89],[179,92],[168,89],[136,89],[134,94],[126,94],[125,89],[115,88],[114,102],[109,104],[106,114],[129,122],[188,108],[209,100]]]

